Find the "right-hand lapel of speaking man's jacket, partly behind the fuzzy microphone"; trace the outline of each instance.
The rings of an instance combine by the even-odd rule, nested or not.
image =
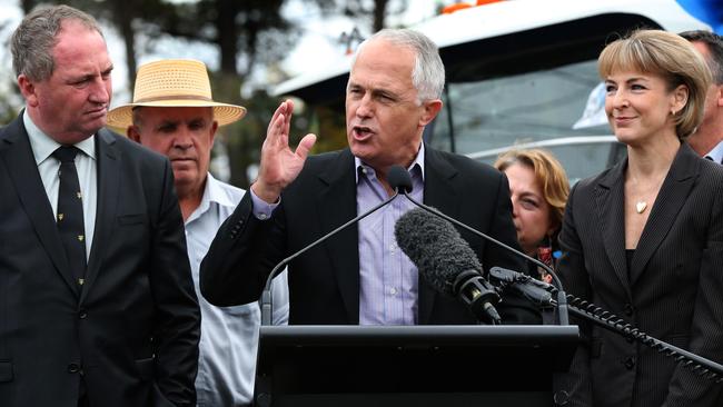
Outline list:
[[[424,204],[455,219],[459,218],[459,199],[450,179],[457,175],[440,155],[425,145]],[[418,324],[427,325],[437,292],[419,279]]]

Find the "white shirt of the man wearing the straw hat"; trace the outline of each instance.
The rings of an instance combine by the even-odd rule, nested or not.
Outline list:
[[[186,220],[188,258],[201,309],[201,339],[196,376],[199,407],[248,405],[254,395],[256,350],[261,322],[258,302],[216,307],[201,296],[199,288],[201,260],[218,228],[234,212],[242,197],[242,189],[220,182],[209,173],[201,202]],[[286,271],[274,279],[271,295],[273,322],[285,325],[289,309]]]

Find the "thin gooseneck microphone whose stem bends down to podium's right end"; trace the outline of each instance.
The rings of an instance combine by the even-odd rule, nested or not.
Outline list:
[[[487,235],[478,231],[477,229],[474,229],[474,228],[458,221],[457,219],[454,219],[454,218],[440,212],[439,210],[437,210],[435,208],[432,208],[432,207],[426,206],[426,205],[424,205],[422,202],[418,202],[416,199],[414,199],[414,198],[412,198],[409,196],[409,192],[412,191],[412,187],[410,187],[412,186],[412,178],[409,177],[409,173],[402,167],[398,167],[398,169],[395,169],[395,167],[398,167],[398,166],[392,167],[389,169],[389,173],[392,173],[394,171],[394,172],[398,173],[399,178],[407,177],[409,179],[409,181],[408,181],[409,189],[408,190],[407,189],[399,189],[398,192],[403,193],[405,197],[407,197],[407,199],[409,201],[412,201],[412,204],[414,204],[417,207],[422,208],[423,210],[434,215],[435,217],[445,219],[445,220],[452,222],[455,226],[458,226],[458,227],[460,227],[460,228],[463,228],[463,229],[465,229],[465,230],[467,230],[467,231],[469,231],[469,232],[472,232],[472,234],[474,234],[474,235],[476,235],[476,236],[478,236],[478,237],[481,237],[481,238],[483,238],[483,239],[485,239],[487,241],[491,241],[491,242],[497,245],[498,247],[504,248],[505,250],[508,250],[508,251],[522,257],[523,259],[525,259],[527,261],[532,261],[533,264],[542,267],[545,271],[547,271],[547,274],[549,274],[553,277],[554,286],[557,288],[556,302],[557,302],[557,317],[558,317],[558,320],[559,320],[559,325],[568,325],[570,324],[570,320],[568,320],[568,317],[567,317],[567,298],[565,297],[565,291],[563,290],[563,284],[559,280],[559,278],[557,277],[557,274],[555,274],[555,271],[552,268],[549,268],[544,262],[542,262],[542,261],[539,261],[537,259],[534,259],[534,258],[523,254],[522,251],[516,250],[516,249],[503,244],[502,241],[499,241],[499,240],[497,240],[497,239],[495,239],[495,238],[493,238],[491,236],[487,236]],[[404,181],[400,181],[400,183],[407,185],[406,179]]]

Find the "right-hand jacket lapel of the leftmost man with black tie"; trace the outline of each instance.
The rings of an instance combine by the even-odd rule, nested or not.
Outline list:
[[[106,129],[100,129],[96,136],[96,169],[98,171],[98,207],[96,209],[96,229],[90,247],[86,285],[80,301],[82,302],[92,287],[102,262],[103,247],[110,239],[115,225],[116,208],[118,207],[118,188],[120,178],[119,153],[115,147],[116,140]]]

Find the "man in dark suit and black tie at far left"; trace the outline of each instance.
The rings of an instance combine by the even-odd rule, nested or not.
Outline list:
[[[0,404],[194,406],[199,310],[171,168],[102,129],[98,24],[37,9],[12,56],[26,109],[0,132]]]

